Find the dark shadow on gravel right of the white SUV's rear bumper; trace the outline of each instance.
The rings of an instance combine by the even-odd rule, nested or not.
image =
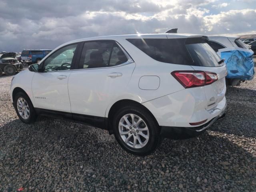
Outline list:
[[[245,137],[256,137],[256,90],[228,87],[227,111],[223,120],[209,130]]]

